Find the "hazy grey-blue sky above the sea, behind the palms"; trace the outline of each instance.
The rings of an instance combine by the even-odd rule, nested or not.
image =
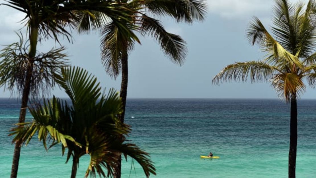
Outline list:
[[[0,0],[2,3],[3,0]],[[290,0],[290,2],[298,2]],[[307,0],[301,1],[307,2]],[[173,64],[160,50],[152,37],[140,38],[129,56],[128,98],[277,98],[269,83],[223,83],[212,85],[212,78],[228,64],[258,60],[264,53],[251,46],[246,39],[246,28],[253,16],[259,17],[270,28],[273,0],[208,0],[208,13],[203,22],[176,23],[161,18],[167,31],[179,34],[187,42],[188,55],[182,66]],[[0,6],[0,45],[18,40],[14,31],[23,27],[19,20],[23,14]],[[93,73],[103,87],[119,91],[120,76],[109,77],[100,60],[100,34],[79,35],[73,31],[74,42],[63,40],[72,65]],[[46,52],[59,47],[53,40],[40,44],[38,50]],[[1,89],[1,97],[10,92]],[[55,89],[52,94],[66,97]],[[307,88],[301,98],[316,98],[316,91]]]

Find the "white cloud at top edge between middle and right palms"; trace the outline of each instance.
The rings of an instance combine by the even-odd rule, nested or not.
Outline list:
[[[298,0],[289,0],[291,3]],[[308,2],[308,0],[301,0]],[[274,0],[208,0],[210,13],[224,18],[243,18],[249,15],[270,16]]]

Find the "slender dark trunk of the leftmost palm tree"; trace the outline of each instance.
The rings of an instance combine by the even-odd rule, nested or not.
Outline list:
[[[19,116],[19,123],[25,121],[25,115],[27,110],[27,102],[28,96],[30,94],[31,88],[31,79],[32,79],[32,71],[33,71],[33,58],[36,54],[36,45],[37,45],[37,28],[31,28],[31,35],[30,35],[30,52],[29,52],[29,66],[27,67],[27,73],[25,77],[25,84],[22,93],[22,101],[21,101],[21,110]],[[23,126],[20,126],[23,127]],[[15,143],[14,152],[13,152],[13,161],[12,161],[12,168],[11,168],[11,178],[16,178],[18,174],[19,168],[19,160],[20,160],[20,152],[21,152],[21,142],[17,141]]]

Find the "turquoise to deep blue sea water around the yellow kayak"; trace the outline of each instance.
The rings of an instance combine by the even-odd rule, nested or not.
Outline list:
[[[9,177],[14,145],[8,130],[18,120],[19,102],[0,99],[0,175]],[[278,100],[130,99],[130,139],[151,154],[157,178],[287,177],[289,105]],[[316,100],[298,102],[296,175],[316,177]],[[131,117],[134,118],[131,118]],[[28,119],[31,117],[28,115]],[[220,159],[200,159],[210,151]],[[70,177],[61,147],[46,152],[33,140],[22,148],[18,177]],[[83,177],[89,157],[80,160]],[[134,170],[135,169],[135,170]],[[145,177],[131,160],[123,178]]]

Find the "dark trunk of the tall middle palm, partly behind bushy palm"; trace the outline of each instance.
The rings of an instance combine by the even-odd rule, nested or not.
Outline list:
[[[125,116],[125,106],[126,106],[126,97],[127,97],[127,83],[128,83],[128,54],[127,51],[123,52],[122,55],[122,82],[121,82],[121,92],[120,98],[122,100],[123,112],[119,115],[119,120],[124,123]],[[122,158],[119,154],[119,160],[117,163],[116,170],[114,171],[114,178],[121,178],[121,164]]]

